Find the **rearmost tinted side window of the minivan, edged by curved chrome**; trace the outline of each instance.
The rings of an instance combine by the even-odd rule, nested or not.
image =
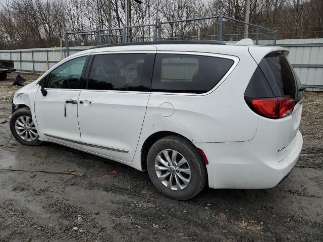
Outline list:
[[[157,54],[151,91],[205,93],[229,71],[232,59],[188,55]]]

